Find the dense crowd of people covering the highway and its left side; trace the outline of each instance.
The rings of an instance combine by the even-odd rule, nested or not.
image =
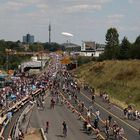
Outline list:
[[[63,100],[63,98],[61,98],[60,93],[63,93],[68,102],[72,104],[74,109],[79,112],[79,119],[81,119],[81,116],[85,118],[82,127],[83,131],[86,131],[87,134],[92,134],[94,130],[96,138],[98,139],[100,136],[100,130],[103,127],[106,139],[109,139],[109,137],[122,138],[124,135],[124,129],[114,120],[110,114],[108,114],[107,118],[104,118],[104,123],[101,123],[102,114],[98,109],[94,108],[94,103],[96,102],[94,89],[88,88],[87,85],[80,87],[78,82],[74,79],[72,74],[66,70],[65,67],[60,67],[60,65],[54,66],[54,63],[56,62],[49,62],[49,69],[47,72],[45,71],[41,76],[14,79],[12,86],[3,88],[0,91],[1,109],[8,108],[10,107],[10,104],[21,100],[25,96],[32,95],[32,92],[38,88],[42,88],[42,90],[44,90],[45,84],[47,83],[47,86],[49,87],[50,93],[52,95],[50,101],[50,109],[54,109],[55,104],[57,103],[63,104],[66,102]],[[60,69],[58,67],[60,67]],[[85,105],[84,101],[78,97],[81,89],[85,91],[88,90],[91,93],[92,104],[88,107]],[[102,97],[103,101],[110,103],[108,94],[103,93],[100,96]],[[41,101],[43,101],[43,99]],[[39,99],[37,100],[37,106],[40,106],[41,101],[39,101]],[[133,109],[130,106],[125,108],[124,115],[128,119],[140,119],[139,112],[137,110],[132,110]],[[47,121],[46,133],[49,131],[49,126],[49,121]],[[65,121],[62,123],[62,126],[63,134],[64,136],[67,136],[68,127]]]

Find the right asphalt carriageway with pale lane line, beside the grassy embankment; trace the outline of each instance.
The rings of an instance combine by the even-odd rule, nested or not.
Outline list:
[[[79,99],[85,102],[85,105],[88,107],[91,105],[91,95],[84,90],[78,94]],[[125,134],[124,137],[127,140],[140,140],[140,135],[138,134],[138,128],[140,127],[140,121],[132,121],[124,118],[123,111],[116,107],[115,105],[111,105],[111,109],[108,108],[108,104],[103,102],[101,98],[96,98],[96,103],[93,105],[93,112],[97,109],[100,111],[101,119],[105,120],[109,114],[113,117],[112,119],[117,121],[117,123],[124,128]]]

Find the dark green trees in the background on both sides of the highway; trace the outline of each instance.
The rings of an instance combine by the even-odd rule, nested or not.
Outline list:
[[[119,34],[116,28],[110,28],[107,30],[105,35],[106,45],[105,51],[100,55],[99,60],[107,60],[107,59],[140,59],[140,35],[136,38],[134,43],[130,43],[127,37],[124,37],[119,42]],[[6,49],[16,50],[16,51],[28,51],[28,52],[38,52],[38,51],[57,51],[62,50],[65,51],[66,48],[58,43],[33,43],[33,44],[23,44],[20,41],[5,41],[0,40],[0,69],[6,69],[7,65],[9,69],[18,68],[18,65],[26,61],[30,58],[30,56],[18,56],[18,55],[10,55],[8,56],[8,64],[7,64],[7,54],[5,52]],[[80,59],[80,61],[82,61]]]

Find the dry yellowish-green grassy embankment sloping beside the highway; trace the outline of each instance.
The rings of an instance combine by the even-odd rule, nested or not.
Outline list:
[[[73,72],[97,93],[106,91],[115,104],[140,110],[140,60],[90,62]]]

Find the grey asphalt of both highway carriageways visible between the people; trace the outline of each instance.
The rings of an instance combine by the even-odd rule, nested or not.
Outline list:
[[[63,83],[66,80],[66,77],[59,77],[59,78],[61,78],[60,80],[61,83]],[[72,77],[70,77],[70,79],[72,79]],[[124,135],[123,135],[124,140],[139,140],[140,139],[140,136],[138,134],[140,122],[138,120],[132,121],[132,120],[125,119],[123,115],[123,111],[120,108],[116,107],[115,105],[111,105],[111,109],[109,109],[108,104],[103,102],[100,97],[96,97],[96,103],[93,105],[91,103],[91,94],[82,88],[80,92],[77,92],[76,94],[78,96],[78,99],[84,102],[85,110],[88,109],[89,106],[93,106],[92,121],[95,118],[94,114],[96,110],[100,111],[101,119],[99,122],[99,127],[103,136],[104,136],[104,133],[103,133],[104,121],[105,119],[108,118],[110,114],[112,116],[112,121],[116,121],[119,126],[122,126],[124,128]],[[67,98],[66,95],[65,97]],[[30,123],[32,127],[44,128],[45,122],[50,121],[51,126],[50,126],[50,133],[47,135],[48,139],[49,140],[60,139],[62,138],[62,122],[63,120],[66,120],[69,126],[69,135],[67,139],[82,139],[84,137],[86,137],[86,139],[87,138],[91,139],[91,137],[95,137],[95,135],[87,137],[87,134],[86,135],[84,134],[84,136],[82,136],[81,138],[81,135],[83,135],[83,133],[80,131],[80,128],[82,128],[82,123],[77,120],[77,116],[75,118],[73,114],[63,106],[56,106],[55,110],[50,110],[49,98],[46,101],[44,111],[39,111],[38,109],[35,109],[33,111],[31,123]],[[114,138],[110,137],[110,139],[114,139]]]

